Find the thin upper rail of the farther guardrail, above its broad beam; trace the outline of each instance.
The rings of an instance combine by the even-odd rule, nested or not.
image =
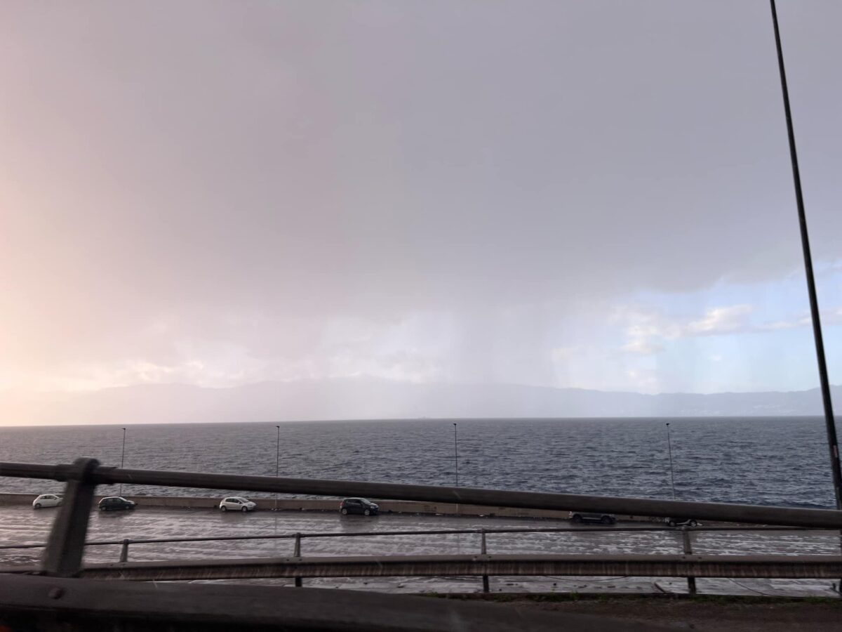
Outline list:
[[[481,529],[418,529],[413,531],[352,531],[352,532],[328,532],[328,533],[276,533],[272,535],[222,535],[222,536],[197,536],[193,538],[123,538],[120,540],[93,540],[86,542],[85,546],[114,546],[118,544],[171,544],[189,542],[216,542],[229,540],[282,540],[293,539],[296,536],[305,538],[370,538],[376,536],[403,536],[403,535],[459,535],[459,534],[497,534],[497,533],[680,533],[681,527],[547,527],[547,528],[481,528]],[[749,533],[826,533],[835,532],[835,529],[809,528],[809,527],[687,527],[688,531],[694,533],[717,533],[717,532],[749,532]],[[31,544],[0,544],[0,550],[5,549],[40,549],[47,543]]]

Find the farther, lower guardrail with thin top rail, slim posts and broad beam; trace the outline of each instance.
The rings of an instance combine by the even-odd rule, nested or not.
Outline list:
[[[499,575],[605,575],[686,576],[690,594],[695,594],[695,577],[786,577],[835,578],[842,573],[842,560],[833,556],[694,556],[691,533],[825,533],[832,529],[799,527],[550,527],[550,528],[468,528],[416,529],[399,531],[358,531],[330,533],[278,533],[271,535],[204,536],[192,538],[124,538],[86,542],[85,546],[120,546],[120,564],[87,565],[80,576],[92,579],[133,581],[219,580],[292,577],[296,586],[302,578],[334,576],[482,576],[482,591],[489,591],[489,576]],[[488,535],[530,533],[679,533],[684,555],[488,555]],[[424,535],[480,536],[479,555],[407,556],[343,558],[301,557],[301,541],[317,538],[370,538]],[[129,562],[131,544],[172,544],[193,542],[228,542],[242,540],[295,541],[291,557],[248,560],[190,560],[188,562]],[[47,543],[3,544],[0,550],[45,548]],[[642,558],[642,559],[641,559]],[[423,560],[423,561],[422,561]],[[537,572],[541,570],[541,572]],[[7,572],[31,573],[31,567],[8,568]],[[599,572],[597,572],[599,571]]]

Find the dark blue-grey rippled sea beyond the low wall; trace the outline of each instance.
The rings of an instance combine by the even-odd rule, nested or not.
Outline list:
[[[453,485],[454,420],[280,424],[280,475]],[[819,417],[456,420],[459,484],[500,490],[833,506]],[[125,467],[275,474],[275,424],[128,426]],[[119,465],[120,426],[0,428],[0,460]],[[58,490],[0,479],[0,491]],[[205,495],[125,485],[124,494]],[[214,491],[211,495],[220,495]],[[258,494],[252,494],[258,495]]]

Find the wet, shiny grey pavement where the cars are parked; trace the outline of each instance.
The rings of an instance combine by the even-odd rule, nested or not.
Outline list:
[[[32,510],[0,506],[0,544],[45,542],[55,509]],[[647,523],[623,523],[623,526]],[[413,516],[340,516],[328,512],[255,511],[222,513],[208,509],[157,509],[93,512],[88,540],[189,538],[208,536],[272,535],[283,533],[359,533],[427,529],[547,528],[569,527],[566,521],[528,518]],[[571,533],[488,534],[491,554],[622,554],[682,551],[678,532],[600,532],[583,526]],[[816,533],[694,533],[696,554],[839,554],[839,534]],[[132,544],[129,559],[195,560],[286,556],[290,540],[240,540],[199,543]],[[0,564],[29,564],[40,549],[0,549]],[[305,538],[301,554],[475,554],[479,534],[371,536],[358,538]],[[90,546],[86,562],[112,562],[120,556],[117,545]],[[384,592],[479,592],[479,577],[394,577],[371,579],[306,579],[307,586],[357,588]],[[289,580],[251,580],[253,583],[284,584]],[[242,581],[240,583],[243,583]],[[248,583],[246,581],[245,583]],[[663,577],[526,577],[490,578],[492,592],[686,592],[686,581]],[[698,590],[706,594],[837,596],[827,580],[728,580],[699,579]]]

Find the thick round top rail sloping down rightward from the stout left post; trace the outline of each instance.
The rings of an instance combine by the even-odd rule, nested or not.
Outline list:
[[[75,465],[0,463],[0,476],[72,480],[81,470]],[[403,501],[447,502],[463,505],[504,506],[554,511],[594,511],[632,516],[695,518],[723,522],[842,528],[842,511],[801,509],[713,502],[662,501],[531,491],[483,490],[472,487],[400,485],[353,480],[288,479],[240,474],[197,474],[148,469],[97,466],[86,472],[90,485],[160,485],[215,490],[251,490],[327,496],[371,496]]]

